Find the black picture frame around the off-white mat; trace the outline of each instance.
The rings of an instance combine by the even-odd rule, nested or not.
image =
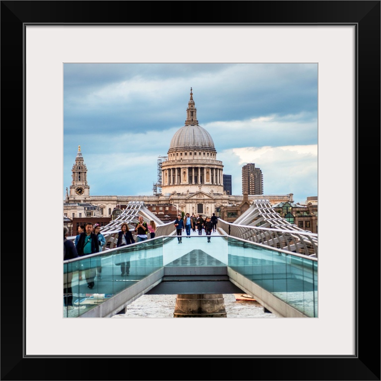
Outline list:
[[[171,11],[169,12],[169,8]],[[1,1],[1,120],[19,131],[6,155],[16,154],[16,170],[5,160],[5,179],[22,183],[11,194],[23,200],[20,229],[5,216],[6,251],[1,256],[1,380],[380,380],[380,1]],[[176,22],[171,20],[176,19]],[[30,356],[25,357],[25,26],[27,24],[351,24],[357,31],[356,108],[356,343],[354,356]],[[14,135],[12,133],[12,136]],[[360,132],[362,132],[360,134]],[[365,135],[366,134],[366,135]],[[5,140],[5,141],[4,141]],[[16,143],[16,144],[14,144]],[[22,147],[22,149],[20,148]],[[360,147],[367,155],[360,157]],[[15,152],[16,148],[16,152]],[[375,158],[376,153],[378,154]],[[372,163],[369,166],[369,163]],[[3,161],[4,163],[4,161]],[[21,177],[21,168],[23,176]],[[360,169],[362,170],[360,172]],[[377,172],[374,173],[375,169]],[[16,171],[16,172],[15,172]],[[368,175],[371,171],[372,175]],[[16,174],[19,175],[16,175]],[[365,175],[367,173],[367,175]],[[377,178],[377,187],[374,179]],[[8,183],[8,181],[6,182]],[[18,191],[17,191],[18,190]],[[362,190],[360,197],[360,190]],[[365,197],[365,191],[368,190]],[[378,192],[379,194],[379,192]],[[3,193],[4,195],[4,193]],[[10,198],[9,198],[10,199]],[[331,200],[340,210],[340,200]],[[370,212],[372,211],[372,212]],[[4,212],[3,212],[4,213]],[[16,213],[20,213],[17,206]],[[367,213],[367,216],[365,216]],[[5,217],[5,218],[4,218]],[[337,215],[335,223],[339,223]],[[374,225],[377,225],[376,227]],[[4,227],[6,225],[6,227]],[[367,231],[360,235],[360,226]],[[374,227],[374,228],[372,228]],[[36,234],[43,236],[38,227]],[[33,227],[36,229],[36,227]],[[17,233],[18,232],[18,233]],[[353,234],[349,232],[348,234]],[[23,237],[22,246],[20,236]],[[4,237],[6,238],[4,240]],[[13,237],[13,238],[12,238]],[[14,241],[13,241],[14,240]],[[18,242],[15,245],[10,245]],[[372,244],[372,246],[371,246]],[[35,260],[38,260],[38,248]],[[10,270],[11,269],[11,270]],[[21,274],[21,269],[23,269]],[[341,290],[345,292],[345,290]],[[351,290],[352,291],[352,290]],[[332,295],[332,297],[338,297]],[[23,301],[21,304],[20,301]],[[41,302],[40,302],[41,303]],[[239,323],[237,323],[239,324]],[[180,335],[181,332],[168,332]],[[44,332],[41,332],[43,335]],[[229,335],[231,333],[222,332]],[[297,333],[296,333],[297,334]],[[308,332],[304,332],[308,335]],[[149,338],[147,345],[150,345]],[[332,338],[334,339],[334,338]],[[260,343],[254,343],[260,345]],[[126,344],[128,345],[128,344]],[[160,345],[160,343],[156,343]],[[179,344],[180,345],[180,344]],[[181,345],[184,345],[182,343]],[[205,345],[205,343],[201,343]],[[327,343],[329,348],[329,343]],[[75,350],[73,351],[75,353]],[[96,366],[102,357],[102,371]],[[152,363],[152,360],[155,363]],[[116,364],[118,361],[118,364]],[[123,361],[123,362],[122,362]],[[189,363],[193,361],[193,363]],[[94,366],[92,366],[94,364]],[[131,365],[130,365],[131,364]],[[193,364],[192,366],[190,366]],[[86,366],[84,366],[86,365]],[[113,366],[114,365],[114,366]],[[115,367],[115,365],[117,365]],[[154,365],[154,366],[153,366]],[[182,371],[179,373],[179,367]],[[105,374],[109,375],[106,376]],[[116,376],[116,374],[118,376]]]

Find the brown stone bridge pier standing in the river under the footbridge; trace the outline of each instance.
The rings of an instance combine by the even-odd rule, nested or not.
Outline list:
[[[178,294],[174,318],[226,318],[222,294]]]

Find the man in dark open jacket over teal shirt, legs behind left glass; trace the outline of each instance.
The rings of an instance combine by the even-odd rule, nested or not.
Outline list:
[[[93,233],[93,224],[87,222],[85,225],[85,231],[79,235],[78,243],[76,246],[79,256],[99,253],[99,241],[96,234]],[[85,277],[88,288],[94,287],[94,278],[97,273],[98,260],[100,258],[89,258],[88,261],[84,263]]]

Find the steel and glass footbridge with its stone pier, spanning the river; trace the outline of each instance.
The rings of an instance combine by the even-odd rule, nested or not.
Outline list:
[[[139,216],[155,221],[155,238],[117,248],[121,225],[133,231]],[[163,223],[142,201],[130,201],[101,233],[100,253],[64,261],[64,288],[71,283],[73,295],[65,318],[112,317],[144,294],[177,294],[174,317],[226,317],[222,294],[232,293],[253,296],[278,317],[318,317],[318,235],[289,223],[268,200],[254,200],[234,223],[219,218],[210,243],[196,230],[179,245],[174,221]],[[121,258],[130,262],[128,275],[116,264]],[[89,289],[84,273],[99,266]]]

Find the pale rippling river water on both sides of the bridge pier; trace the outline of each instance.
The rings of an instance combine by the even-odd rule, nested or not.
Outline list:
[[[112,318],[173,318],[177,295],[142,295],[126,307],[125,314]],[[266,313],[256,301],[237,301],[234,294],[223,294],[227,318],[277,318]]]

